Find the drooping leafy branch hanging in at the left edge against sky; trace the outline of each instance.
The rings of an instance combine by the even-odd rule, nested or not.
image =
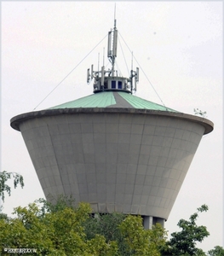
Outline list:
[[[24,187],[23,177],[16,172],[0,172],[0,198],[4,201],[5,192],[11,195],[11,187],[7,184],[9,179],[14,179],[14,189],[20,184],[21,188]]]

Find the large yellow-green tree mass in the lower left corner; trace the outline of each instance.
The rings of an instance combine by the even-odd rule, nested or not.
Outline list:
[[[86,239],[83,222],[90,212],[87,203],[44,215],[36,203],[17,207],[16,218],[0,219],[1,249],[36,248],[37,255],[116,255],[116,242],[106,243],[104,236]]]

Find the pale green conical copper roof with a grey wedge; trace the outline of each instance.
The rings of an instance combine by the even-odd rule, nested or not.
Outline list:
[[[178,112],[123,91],[99,92],[49,109],[59,108],[136,108]]]

